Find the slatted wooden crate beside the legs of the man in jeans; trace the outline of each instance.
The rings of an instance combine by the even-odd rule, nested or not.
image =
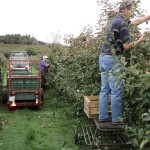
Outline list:
[[[99,96],[84,96],[84,112],[88,118],[97,118],[99,114]],[[111,113],[110,96],[108,98],[108,113]]]

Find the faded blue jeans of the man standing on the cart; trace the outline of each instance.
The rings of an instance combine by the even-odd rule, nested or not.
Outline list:
[[[111,94],[112,122],[118,122],[122,115],[122,80],[121,63],[111,55],[101,54],[99,57],[101,72],[101,91],[99,100],[99,120],[108,118],[108,96]]]

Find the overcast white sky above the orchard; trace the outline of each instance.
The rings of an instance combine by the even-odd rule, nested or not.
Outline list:
[[[149,11],[150,1],[141,1]],[[30,34],[52,42],[54,34],[78,36],[94,27],[99,14],[97,0],[0,0],[0,35]]]

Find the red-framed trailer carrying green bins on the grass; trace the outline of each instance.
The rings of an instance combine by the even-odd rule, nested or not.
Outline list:
[[[41,108],[44,92],[40,70],[40,60],[9,60],[7,88],[2,90],[2,102],[9,109],[21,106]]]

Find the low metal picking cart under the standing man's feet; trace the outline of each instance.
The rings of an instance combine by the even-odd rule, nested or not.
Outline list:
[[[82,126],[84,142],[91,150],[106,147],[113,150],[132,150],[127,144],[128,138],[125,135],[123,126],[114,126],[112,122],[99,122],[98,118],[93,118],[95,125]],[[78,141],[78,134],[75,131],[75,144]]]

